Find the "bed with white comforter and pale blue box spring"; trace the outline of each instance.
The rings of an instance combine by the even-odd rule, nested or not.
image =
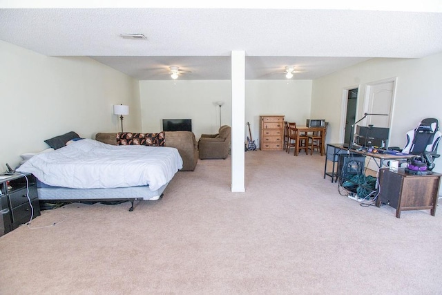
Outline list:
[[[39,153],[17,168],[37,178],[39,200],[158,200],[182,169],[177,149],[167,146],[113,146],[77,140]]]

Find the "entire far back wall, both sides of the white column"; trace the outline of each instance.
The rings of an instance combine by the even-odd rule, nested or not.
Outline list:
[[[256,142],[260,115],[285,115],[302,125],[309,117],[311,80],[247,80],[245,86],[245,118]],[[140,100],[143,132],[161,131],[162,119],[190,118],[197,139],[202,133],[216,133],[220,127],[218,101],[224,102],[222,124],[231,124],[229,80],[140,81]],[[244,131],[247,136],[246,126]]]

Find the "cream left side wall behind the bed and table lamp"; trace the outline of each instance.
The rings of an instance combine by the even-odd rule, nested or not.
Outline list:
[[[48,148],[68,131],[119,131],[113,104],[128,104],[128,129],[141,129],[137,80],[86,57],[46,57],[0,41],[0,171],[21,153]]]

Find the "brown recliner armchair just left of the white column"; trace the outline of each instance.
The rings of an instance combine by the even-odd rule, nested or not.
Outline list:
[[[230,126],[221,126],[217,134],[202,134],[198,141],[200,159],[225,159],[231,142]]]

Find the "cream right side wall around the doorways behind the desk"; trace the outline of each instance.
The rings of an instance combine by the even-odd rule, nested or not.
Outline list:
[[[360,85],[358,115],[363,113],[365,85],[397,77],[390,146],[405,145],[405,133],[426,117],[442,122],[442,53],[422,59],[371,59],[316,79],[312,90],[312,117],[329,120],[327,142],[338,142],[344,88]],[[439,153],[442,152],[439,147]],[[439,162],[439,164],[438,164]],[[436,160],[435,171],[442,171]]]

